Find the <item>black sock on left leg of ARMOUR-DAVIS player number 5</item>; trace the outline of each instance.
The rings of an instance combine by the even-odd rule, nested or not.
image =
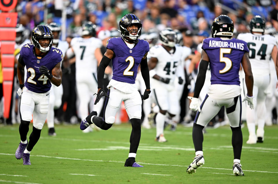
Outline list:
[[[196,123],[193,124],[192,138],[193,138],[193,143],[194,143],[194,147],[195,147],[195,152],[203,150],[203,141],[204,141],[204,136],[203,136],[203,131],[202,131],[203,128],[204,128],[204,126],[202,126],[202,125],[198,125]]]

